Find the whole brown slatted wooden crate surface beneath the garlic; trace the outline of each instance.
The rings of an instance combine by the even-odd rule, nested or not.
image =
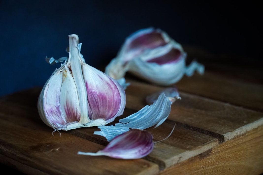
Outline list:
[[[210,68],[213,67],[213,64]],[[212,65],[212,66],[211,66]],[[217,70],[217,69],[215,69]],[[138,160],[77,155],[107,145],[98,129],[79,128],[52,135],[37,112],[41,88],[0,99],[0,157],[4,165],[27,174],[259,174],[263,172],[263,91],[261,77],[234,79],[229,71],[184,77],[181,100],[168,119],[147,129],[153,151]],[[255,74],[257,71],[255,71]],[[145,106],[145,97],[163,87],[128,78],[123,118]],[[119,120],[117,118],[114,122]],[[113,122],[113,123],[114,123]]]

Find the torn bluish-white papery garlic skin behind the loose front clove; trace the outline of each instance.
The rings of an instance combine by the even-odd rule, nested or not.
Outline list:
[[[127,132],[129,128],[143,130],[154,125],[156,128],[167,119],[170,111],[171,102],[164,93],[161,93],[152,105],[146,105],[138,112],[120,119],[115,126],[99,126],[100,131],[94,131],[94,134],[101,135],[110,141],[117,135]]]

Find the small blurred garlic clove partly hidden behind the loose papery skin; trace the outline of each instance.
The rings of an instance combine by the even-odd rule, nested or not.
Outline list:
[[[164,93],[165,96],[170,100],[170,102],[173,104],[176,100],[181,99],[179,96],[179,92],[176,87],[170,87],[170,88],[165,88],[162,91],[153,93],[149,96],[146,97],[146,103],[148,105],[153,104],[159,97],[161,93]]]

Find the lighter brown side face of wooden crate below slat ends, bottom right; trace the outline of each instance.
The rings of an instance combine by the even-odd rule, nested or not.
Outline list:
[[[160,174],[261,174],[263,126],[224,142]]]

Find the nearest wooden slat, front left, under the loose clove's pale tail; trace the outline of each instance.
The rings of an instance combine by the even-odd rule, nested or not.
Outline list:
[[[37,108],[1,102],[0,111],[1,162],[12,160],[31,167],[26,173],[156,174],[159,171],[157,164],[143,159],[77,155],[78,151],[97,152],[104,146],[66,132],[61,136],[56,132],[53,136],[52,129],[40,120]],[[17,168],[24,171],[21,166]]]

